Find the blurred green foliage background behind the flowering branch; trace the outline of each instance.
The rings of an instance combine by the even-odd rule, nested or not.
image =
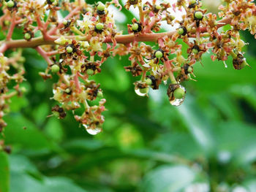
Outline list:
[[[117,25],[125,34],[134,15],[121,14]],[[124,70],[128,56],[108,58],[94,77],[108,108],[96,136],[71,113],[64,120],[46,118],[56,104],[50,97],[57,77],[42,80],[46,62],[24,50],[27,92],[12,99],[4,118],[12,154],[0,153],[1,190],[10,183],[10,192],[255,192],[256,41],[248,31],[241,36],[249,42],[244,51],[252,69],[236,71],[231,60],[225,68],[206,53],[203,66],[195,64],[197,81],[184,83],[180,107],[169,104],[167,85],[149,98],[137,96],[137,78]],[[22,37],[16,30],[14,39]]]

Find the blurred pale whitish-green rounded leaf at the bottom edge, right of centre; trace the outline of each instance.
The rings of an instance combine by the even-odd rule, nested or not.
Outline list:
[[[187,166],[159,166],[143,179],[140,191],[176,192],[181,191],[195,180],[195,172]]]

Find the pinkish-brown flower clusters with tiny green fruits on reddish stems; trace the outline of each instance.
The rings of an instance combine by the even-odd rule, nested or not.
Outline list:
[[[130,55],[131,65],[124,68],[133,76],[141,76],[135,82],[135,93],[139,96],[148,96],[149,88],[156,90],[162,82],[170,80],[167,96],[170,104],[176,106],[184,101],[186,93],[181,82],[192,79],[193,65],[201,62],[203,53],[208,50],[213,53],[213,61],[225,62],[231,56],[235,69],[248,65],[241,52],[246,43],[240,39],[239,30],[249,29],[256,34],[256,6],[252,0],[225,0],[219,7],[219,20],[217,15],[202,9],[200,0],[160,4],[156,0],[146,3],[128,0],[124,7],[138,9],[140,18],[130,21],[126,35],[117,30],[113,14],[108,11],[111,4],[122,8],[117,0],[106,4],[99,1],[93,5],[84,0],[0,1],[4,12],[0,26],[2,31],[7,31],[6,40],[0,42],[0,131],[6,126],[2,117],[10,97],[23,93],[19,86],[23,81],[24,70],[20,64],[23,59],[20,53],[4,57],[2,53],[7,49],[33,47],[45,58],[48,67],[40,75],[45,80],[52,74],[59,76],[59,81],[53,85],[53,99],[59,101],[59,105],[52,108],[53,115],[65,118],[65,110],[75,112],[83,107],[83,114],[75,114],[75,120],[89,134],[102,131],[102,112],[105,111],[105,99],[100,99],[98,105],[89,106],[88,101],[103,96],[99,84],[91,80],[91,76],[101,72],[101,65],[111,55]],[[69,14],[59,18],[60,10]],[[177,20],[172,12],[182,12],[182,19]],[[178,28],[157,33],[162,21],[171,26],[178,23]],[[230,24],[230,30],[218,31],[226,24]],[[23,28],[23,40],[12,40],[15,27]],[[187,58],[177,39],[187,44]],[[157,48],[145,42],[156,42]],[[10,65],[17,69],[16,74],[8,74]],[[15,91],[7,94],[7,82],[13,79],[17,82]]]

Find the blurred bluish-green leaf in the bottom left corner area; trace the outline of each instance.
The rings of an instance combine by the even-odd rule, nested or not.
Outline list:
[[[10,163],[10,192],[86,192],[66,177],[43,177],[23,155],[11,155]]]

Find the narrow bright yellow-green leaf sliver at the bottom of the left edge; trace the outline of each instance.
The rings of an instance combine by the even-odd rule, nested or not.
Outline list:
[[[8,156],[0,152],[0,192],[9,192],[10,172]]]

